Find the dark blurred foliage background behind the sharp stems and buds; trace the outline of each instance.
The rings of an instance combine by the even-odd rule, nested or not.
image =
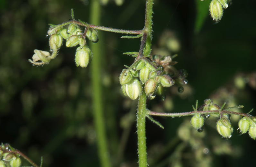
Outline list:
[[[87,22],[88,3],[87,0],[0,1],[0,141],[21,150],[38,164],[43,156],[45,166],[99,166],[91,110],[93,74],[89,68],[76,67],[75,48],[62,47],[59,55],[43,67],[28,62],[34,49],[49,50],[45,37],[48,23],[69,20],[71,8],[76,19]],[[200,3],[210,1],[155,1],[153,52],[178,53],[176,66],[188,71],[189,86],[182,94],[178,94],[177,87],[171,88],[165,101],[156,99],[149,106],[166,112],[190,111],[196,99],[202,104],[215,92],[211,97],[216,97],[216,101],[244,105],[242,112],[249,112],[255,108],[256,99],[253,86],[256,2],[234,1],[217,24],[208,13],[205,15],[208,6]],[[101,25],[142,29],[144,6],[142,0],[126,0],[122,6],[111,2],[102,7]],[[167,31],[172,34],[170,39],[178,41],[179,51],[160,45],[162,34]],[[132,57],[122,52],[137,51],[140,41],[119,39],[121,35],[108,32],[101,34],[99,42],[103,43],[106,55],[102,57],[101,77],[108,156],[114,163],[121,163],[117,166],[136,166],[136,103],[122,96],[118,78],[123,65],[133,62]],[[244,86],[234,84],[237,78],[234,76],[242,77]],[[255,111],[251,114],[256,115]],[[215,119],[207,120],[209,123],[200,134],[189,125],[189,118],[157,119],[164,130],[147,122],[152,166],[254,164],[255,142],[236,132],[230,140],[222,140],[215,130]],[[191,135],[187,136],[190,140],[181,135],[184,131],[189,132],[185,134]]]

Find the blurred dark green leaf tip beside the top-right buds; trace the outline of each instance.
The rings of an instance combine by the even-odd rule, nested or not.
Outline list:
[[[206,17],[209,17],[209,1],[196,0],[196,7],[197,7],[197,15],[196,15],[194,31],[195,33],[198,33],[201,30]]]

